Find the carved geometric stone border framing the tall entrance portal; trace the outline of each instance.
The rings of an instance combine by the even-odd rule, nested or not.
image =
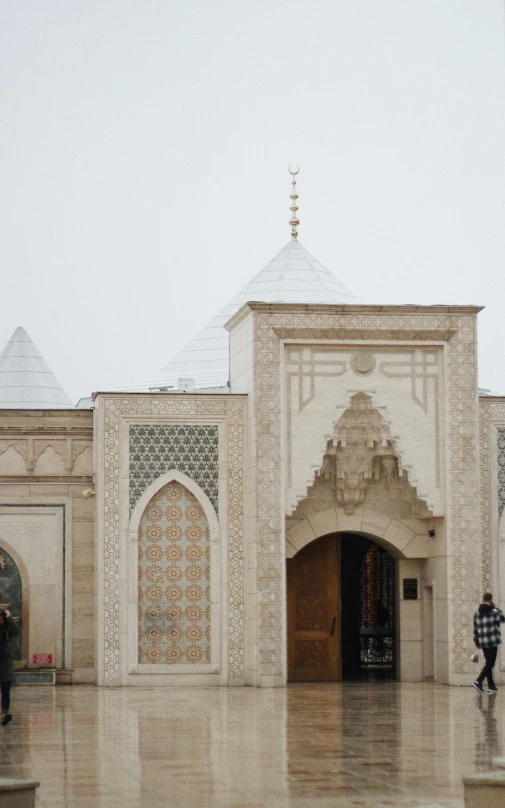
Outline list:
[[[449,337],[447,345],[446,449],[448,455],[448,567],[451,592],[448,640],[449,675],[464,673],[470,653],[471,625],[480,576],[478,565],[479,492],[478,412],[476,403],[476,313],[317,313],[270,311],[252,304],[255,320],[254,402],[257,428],[257,540],[259,649],[258,674],[268,683],[285,676],[284,526],[279,509],[281,475],[281,352],[279,335],[296,339],[391,339],[431,341]],[[277,333],[276,333],[277,332]],[[345,336],[344,336],[345,334]]]

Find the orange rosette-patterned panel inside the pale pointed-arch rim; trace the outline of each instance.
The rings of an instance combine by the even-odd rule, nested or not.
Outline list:
[[[209,526],[183,485],[170,482],[151,499],[138,548],[139,662],[209,663]]]

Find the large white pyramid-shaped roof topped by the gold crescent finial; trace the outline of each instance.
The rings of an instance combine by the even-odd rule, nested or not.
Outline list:
[[[357,297],[299,241],[289,241],[261,272],[161,370],[130,390],[178,389],[180,378],[195,389],[225,387],[229,378],[229,334],[224,324],[244,303],[358,303]]]

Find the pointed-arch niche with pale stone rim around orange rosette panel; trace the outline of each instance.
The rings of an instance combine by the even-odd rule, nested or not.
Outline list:
[[[129,540],[138,629],[129,641],[130,670],[210,672],[219,662],[220,565],[209,498],[185,474],[167,472],[138,500]]]

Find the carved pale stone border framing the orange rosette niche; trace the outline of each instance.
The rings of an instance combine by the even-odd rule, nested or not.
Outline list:
[[[100,684],[123,684],[126,649],[121,620],[126,604],[120,563],[128,532],[128,425],[219,424],[221,539],[227,548],[227,684],[244,679],[244,396],[100,394],[95,409]],[[103,516],[102,516],[103,514]],[[226,518],[227,517],[227,518]],[[123,553],[124,554],[124,553]],[[226,577],[223,578],[226,580]],[[123,659],[123,662],[122,662]],[[122,667],[123,666],[123,667]]]

